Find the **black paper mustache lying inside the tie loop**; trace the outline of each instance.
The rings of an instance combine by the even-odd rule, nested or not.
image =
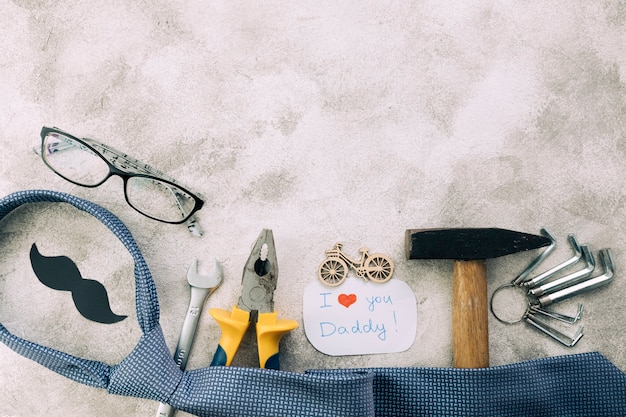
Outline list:
[[[30,262],[43,285],[59,291],[70,291],[80,314],[98,323],[117,323],[127,316],[111,311],[107,290],[98,281],[85,279],[67,256],[43,256],[37,245],[30,248]]]

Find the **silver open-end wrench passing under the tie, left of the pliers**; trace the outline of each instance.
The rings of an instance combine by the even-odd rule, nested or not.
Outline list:
[[[209,275],[200,275],[198,273],[197,259],[194,259],[187,270],[187,282],[189,283],[191,298],[174,353],[174,360],[182,370],[185,370],[187,366],[187,360],[189,359],[191,345],[196,334],[196,329],[198,328],[202,306],[209,295],[222,284],[222,280],[224,279],[222,265],[215,259],[211,259],[211,262],[213,262],[213,269]],[[161,403],[157,410],[156,417],[171,417],[174,415],[174,411],[175,409],[170,405]]]

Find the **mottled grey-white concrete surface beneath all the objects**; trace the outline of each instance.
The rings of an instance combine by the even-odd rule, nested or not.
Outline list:
[[[113,211],[150,266],[174,349],[194,257],[221,260],[206,305],[229,309],[262,228],[280,263],[276,306],[302,322],[302,293],[324,250],[343,242],[391,256],[418,302],[402,353],[331,357],[300,326],[283,369],[452,366],[451,264],[406,261],[404,230],[504,227],[613,250],[610,287],[555,306],[585,306],[585,336],[565,348],[490,316],[494,366],[599,351],[626,370],[626,3],[88,2],[0,6],[0,192],[44,188]],[[99,139],[169,173],[207,200],[205,236],[151,221],[118,178],[64,181],[32,147],[42,125]],[[33,281],[28,248],[62,252],[102,277],[114,310],[98,325]],[[0,322],[38,343],[117,363],[139,338],[132,262],[96,220],[60,205],[24,208],[0,225]],[[488,261],[490,292],[536,255]],[[219,338],[204,314],[189,368]],[[254,366],[254,343],[236,365]],[[0,346],[0,416],[147,416],[152,401],[108,395]],[[180,413],[179,415],[184,415]]]

